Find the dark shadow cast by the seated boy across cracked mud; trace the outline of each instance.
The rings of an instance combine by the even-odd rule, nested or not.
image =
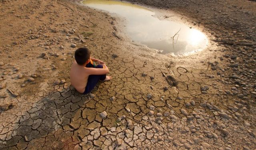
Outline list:
[[[62,149],[67,145],[73,145],[74,148],[79,140],[70,138],[74,130],[77,130],[70,123],[75,115],[80,116],[78,110],[83,108],[86,102],[88,102],[87,95],[78,93],[73,87],[60,86],[35,102],[32,108],[22,116],[18,116],[13,130],[8,133],[10,139],[1,142],[0,149],[30,149],[33,145],[39,146],[38,149],[43,148],[42,146]],[[88,121],[84,119],[83,123],[86,124],[86,122]],[[55,135],[57,132],[61,133],[58,137]],[[50,143],[53,145],[45,145],[47,140],[51,140]],[[68,147],[68,149],[73,148]]]

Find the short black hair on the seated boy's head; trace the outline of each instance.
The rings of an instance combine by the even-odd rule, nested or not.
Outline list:
[[[88,48],[82,47],[78,48],[75,52],[75,60],[77,64],[83,65],[90,59],[91,52]]]

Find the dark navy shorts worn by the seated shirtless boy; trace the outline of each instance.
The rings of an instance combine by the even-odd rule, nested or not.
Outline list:
[[[103,68],[103,65],[98,64],[97,66],[94,66],[94,64],[88,63],[88,64],[86,64],[86,67],[88,67],[88,68]],[[105,79],[106,79],[106,74],[90,75],[88,77],[88,82],[85,87],[84,94],[88,94],[89,92],[91,92],[94,89],[94,87],[96,86],[96,84],[99,82],[99,80],[103,81]]]

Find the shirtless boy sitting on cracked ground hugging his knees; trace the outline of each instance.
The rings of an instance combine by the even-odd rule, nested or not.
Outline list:
[[[88,48],[78,48],[75,52],[75,61],[70,70],[71,85],[83,94],[92,91],[99,80],[107,81],[111,79],[111,76],[106,76],[109,72],[106,64],[101,60],[91,58],[90,54],[91,52]],[[93,61],[98,62],[98,65],[95,66]]]

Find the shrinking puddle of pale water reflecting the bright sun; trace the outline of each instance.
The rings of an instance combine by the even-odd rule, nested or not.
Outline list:
[[[127,33],[132,40],[162,50],[162,54],[195,52],[205,48],[208,43],[199,30],[177,22],[159,20],[154,17],[155,12],[141,6],[112,0],[84,0],[83,4],[125,18]]]

